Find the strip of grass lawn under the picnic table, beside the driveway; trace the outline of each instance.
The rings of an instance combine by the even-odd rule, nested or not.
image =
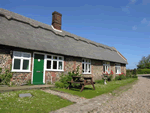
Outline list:
[[[51,89],[90,99],[90,98],[93,98],[95,96],[98,96],[98,95],[101,95],[104,93],[113,92],[114,90],[118,89],[119,87],[127,85],[129,83],[133,83],[137,80],[138,80],[137,78],[129,78],[129,79],[125,79],[125,80],[107,82],[107,85],[95,84],[94,85],[95,90],[93,89],[92,85],[86,85],[82,92],[80,92],[81,88],[71,88],[69,90],[68,89],[60,89],[60,88],[51,88]]]

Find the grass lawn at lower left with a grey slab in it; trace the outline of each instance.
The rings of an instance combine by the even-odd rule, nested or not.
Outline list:
[[[32,97],[20,98],[22,93]],[[48,113],[73,104],[68,100],[41,90],[22,90],[0,93],[0,113]]]

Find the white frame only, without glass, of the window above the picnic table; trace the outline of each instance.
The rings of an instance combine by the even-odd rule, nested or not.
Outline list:
[[[86,62],[88,61],[88,62]],[[83,72],[83,67],[82,67],[82,74],[91,74],[91,60],[90,59],[82,59],[82,65],[84,64],[84,72]],[[85,69],[86,67],[86,64],[87,64],[87,71]],[[90,65],[90,68],[89,68],[89,65]],[[90,70],[90,72],[89,72]]]

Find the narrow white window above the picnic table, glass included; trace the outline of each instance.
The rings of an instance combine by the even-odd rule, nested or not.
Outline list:
[[[88,59],[82,60],[82,73],[91,74],[91,60]]]

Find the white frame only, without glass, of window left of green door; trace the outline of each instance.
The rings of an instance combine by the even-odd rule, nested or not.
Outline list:
[[[21,53],[21,57],[15,56],[15,53],[19,52]],[[26,58],[23,57],[23,54],[29,54],[30,57]],[[20,59],[20,69],[14,69],[14,59]],[[29,60],[29,69],[28,70],[23,70],[23,60]],[[31,53],[27,53],[27,52],[20,52],[20,51],[13,51],[13,59],[12,59],[12,70],[11,72],[31,72]]]

